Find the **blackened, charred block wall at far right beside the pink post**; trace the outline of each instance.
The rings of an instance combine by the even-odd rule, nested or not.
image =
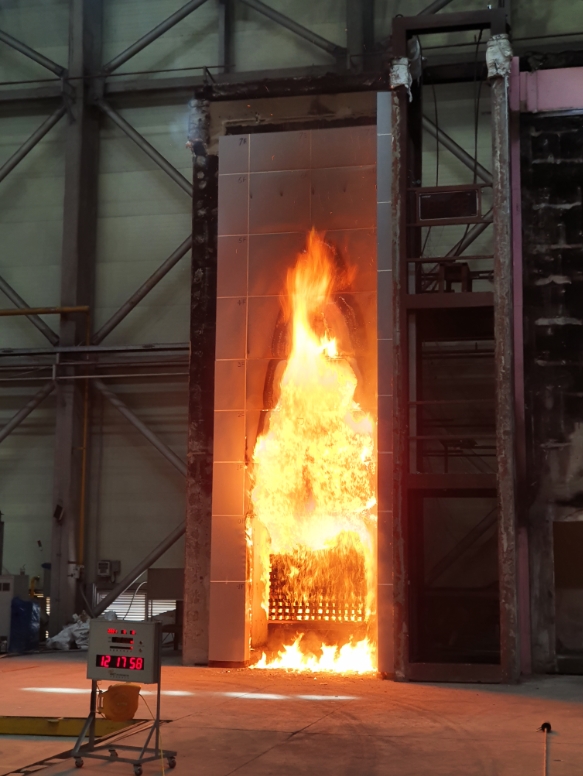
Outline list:
[[[582,672],[581,118],[524,115],[521,149],[533,668]]]

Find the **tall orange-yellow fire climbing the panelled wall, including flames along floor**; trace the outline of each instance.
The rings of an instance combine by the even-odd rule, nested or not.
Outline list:
[[[314,230],[288,271],[282,304],[291,351],[276,372],[277,404],[255,446],[251,500],[269,537],[264,610],[277,561],[281,590],[299,602],[297,619],[362,628],[375,613],[375,427],[354,398],[360,371],[335,298],[353,274]],[[303,655],[299,642],[271,663],[264,655],[258,667],[373,670],[367,638],[323,646],[319,658]]]

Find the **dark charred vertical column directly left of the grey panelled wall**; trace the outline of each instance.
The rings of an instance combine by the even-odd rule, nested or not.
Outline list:
[[[195,207],[182,642],[185,665],[208,660],[218,227],[218,158],[208,153],[209,103],[193,100],[190,107]]]

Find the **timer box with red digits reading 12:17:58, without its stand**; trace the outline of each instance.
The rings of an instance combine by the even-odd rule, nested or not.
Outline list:
[[[87,678],[156,684],[160,646],[160,623],[91,620]]]

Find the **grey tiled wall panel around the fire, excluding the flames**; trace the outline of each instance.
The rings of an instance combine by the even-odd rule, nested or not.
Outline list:
[[[258,622],[262,595],[252,587],[258,559],[249,526],[246,532],[249,464],[266,412],[280,294],[312,227],[357,268],[350,300],[366,332],[360,402],[376,415],[376,132],[224,137],[219,159],[210,660],[245,664],[252,627],[258,641],[266,626]]]

